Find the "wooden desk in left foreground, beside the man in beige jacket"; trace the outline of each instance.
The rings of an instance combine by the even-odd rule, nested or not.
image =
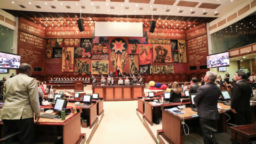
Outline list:
[[[81,136],[81,113],[66,116],[65,121],[59,119],[40,118],[35,126],[34,142],[56,143],[58,137],[62,138],[63,144],[77,143]],[[0,123],[3,130],[3,123]],[[1,130],[1,132],[2,132]],[[2,138],[2,134],[0,135]],[[15,140],[15,138],[14,138]]]

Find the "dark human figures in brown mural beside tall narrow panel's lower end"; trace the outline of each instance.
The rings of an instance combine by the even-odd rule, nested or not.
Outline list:
[[[86,61],[82,61],[79,59],[76,59],[76,71],[75,73],[81,75],[82,73],[85,74],[91,74],[91,72],[89,71],[90,69],[90,63],[86,63],[88,60],[90,60],[91,58],[88,58]]]

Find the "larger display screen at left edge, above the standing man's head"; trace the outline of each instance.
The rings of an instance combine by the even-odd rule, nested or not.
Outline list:
[[[20,55],[0,52],[0,68],[18,69],[20,67]]]

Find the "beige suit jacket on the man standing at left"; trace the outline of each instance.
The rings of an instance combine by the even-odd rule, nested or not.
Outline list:
[[[19,74],[4,84],[4,107],[0,119],[22,119],[40,115],[38,85],[35,78]]]

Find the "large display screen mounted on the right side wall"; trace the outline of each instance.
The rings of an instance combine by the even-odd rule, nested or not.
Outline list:
[[[207,68],[229,66],[229,52],[207,56]]]

